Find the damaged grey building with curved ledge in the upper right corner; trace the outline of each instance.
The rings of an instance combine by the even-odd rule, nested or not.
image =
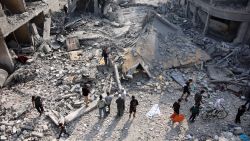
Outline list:
[[[194,25],[203,23],[203,34],[250,43],[250,0],[187,0],[185,13]]]

